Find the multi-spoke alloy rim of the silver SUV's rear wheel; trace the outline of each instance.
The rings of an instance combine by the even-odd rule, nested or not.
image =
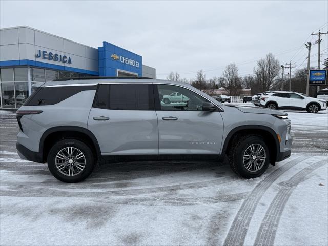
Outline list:
[[[75,176],[86,167],[86,157],[74,147],[65,147],[58,151],[55,158],[57,170],[66,176]]]

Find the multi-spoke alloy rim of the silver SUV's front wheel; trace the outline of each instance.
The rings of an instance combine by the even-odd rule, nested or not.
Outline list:
[[[263,167],[265,159],[267,159],[267,153],[264,147],[260,144],[252,144],[244,152],[244,167],[249,172],[257,172]]]

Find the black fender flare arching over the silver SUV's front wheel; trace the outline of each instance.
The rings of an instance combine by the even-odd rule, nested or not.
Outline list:
[[[277,138],[277,133],[270,127],[267,127],[267,126],[261,126],[261,125],[245,125],[245,126],[239,126],[239,127],[235,127],[234,129],[232,129],[226,139],[224,139],[224,144],[223,144],[223,148],[222,148],[222,152],[221,154],[224,155],[226,154],[227,152],[227,148],[228,148],[228,144],[229,144],[229,141],[231,140],[232,136],[240,131],[240,130],[257,130],[257,129],[260,129],[260,130],[264,130],[264,131],[267,131],[268,133],[271,134],[271,136],[273,137],[273,139],[275,140],[275,146],[276,146],[276,150],[277,150],[277,153],[276,153],[276,158],[278,157],[279,153],[280,153],[280,144],[279,144],[279,140]]]

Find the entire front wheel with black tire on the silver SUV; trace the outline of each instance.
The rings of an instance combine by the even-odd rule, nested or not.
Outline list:
[[[260,156],[253,159],[253,155],[250,154],[252,149],[251,146],[253,146],[255,150],[257,150],[257,147],[263,148],[260,155],[264,154],[264,161],[263,157]],[[244,160],[244,154],[251,157]],[[236,137],[230,146],[228,157],[231,169],[244,178],[256,178],[261,176],[265,170],[267,170],[270,162],[270,153],[267,144],[265,144],[261,136],[255,134]],[[262,161],[259,158],[262,158]]]

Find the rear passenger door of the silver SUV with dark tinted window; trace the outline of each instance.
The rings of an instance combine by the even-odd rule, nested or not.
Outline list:
[[[157,155],[158,125],[153,86],[100,84],[91,108],[88,129],[103,155]]]

